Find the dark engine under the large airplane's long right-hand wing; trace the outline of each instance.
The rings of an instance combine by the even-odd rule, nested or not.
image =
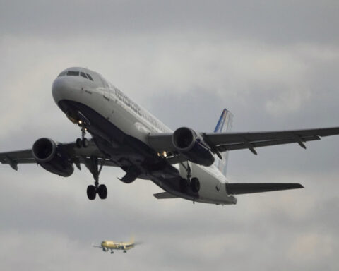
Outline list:
[[[174,147],[189,161],[209,167],[214,162],[214,156],[203,137],[190,128],[177,128],[172,136]]]

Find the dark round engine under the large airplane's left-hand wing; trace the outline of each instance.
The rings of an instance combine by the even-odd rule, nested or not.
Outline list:
[[[54,174],[68,177],[73,174],[73,163],[59,150],[57,143],[40,138],[33,144],[32,155],[41,167]]]

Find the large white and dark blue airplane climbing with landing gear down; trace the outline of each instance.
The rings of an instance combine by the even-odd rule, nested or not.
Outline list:
[[[162,188],[157,199],[184,198],[193,203],[236,204],[235,195],[304,188],[299,183],[230,183],[226,178],[230,150],[305,142],[338,135],[339,127],[291,131],[230,132],[232,114],[223,109],[213,133],[189,127],[175,131],[162,124],[124,92],[88,68],[66,68],[52,84],[52,96],[81,137],[70,143],[39,138],[30,149],[0,153],[0,162],[38,164],[53,174],[69,177],[74,165],[84,164],[93,175],[89,200],[107,198],[99,183],[102,168],[120,167],[124,183],[151,180]],[[86,138],[86,134],[91,139]]]

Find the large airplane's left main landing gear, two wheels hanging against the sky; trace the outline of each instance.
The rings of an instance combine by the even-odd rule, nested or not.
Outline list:
[[[93,174],[93,178],[95,180],[94,186],[91,185],[88,186],[87,188],[87,196],[89,200],[94,200],[96,194],[98,194],[99,198],[101,198],[102,200],[105,200],[105,198],[107,198],[107,188],[105,184],[99,185],[99,175],[104,164],[105,159],[103,160],[102,164],[100,164],[99,168],[99,165],[97,163],[97,157],[94,156],[90,157],[90,161],[85,162],[86,167],[88,167],[90,173]]]

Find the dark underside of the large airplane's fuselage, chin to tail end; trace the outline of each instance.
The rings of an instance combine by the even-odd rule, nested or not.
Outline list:
[[[160,188],[180,198],[203,203],[234,204],[234,200],[227,197],[225,189],[218,191],[218,179],[211,179],[205,171],[199,170],[198,165],[195,165],[193,174],[199,175],[201,190],[198,193],[183,193],[184,177],[179,170],[158,157],[157,153],[141,140],[121,131],[112,123],[112,119],[105,118],[81,102],[63,100],[59,102],[59,107],[64,112],[81,112],[90,121],[88,131],[93,135],[97,147],[124,171],[128,172],[131,167],[137,167],[140,171],[139,179],[150,179]]]

